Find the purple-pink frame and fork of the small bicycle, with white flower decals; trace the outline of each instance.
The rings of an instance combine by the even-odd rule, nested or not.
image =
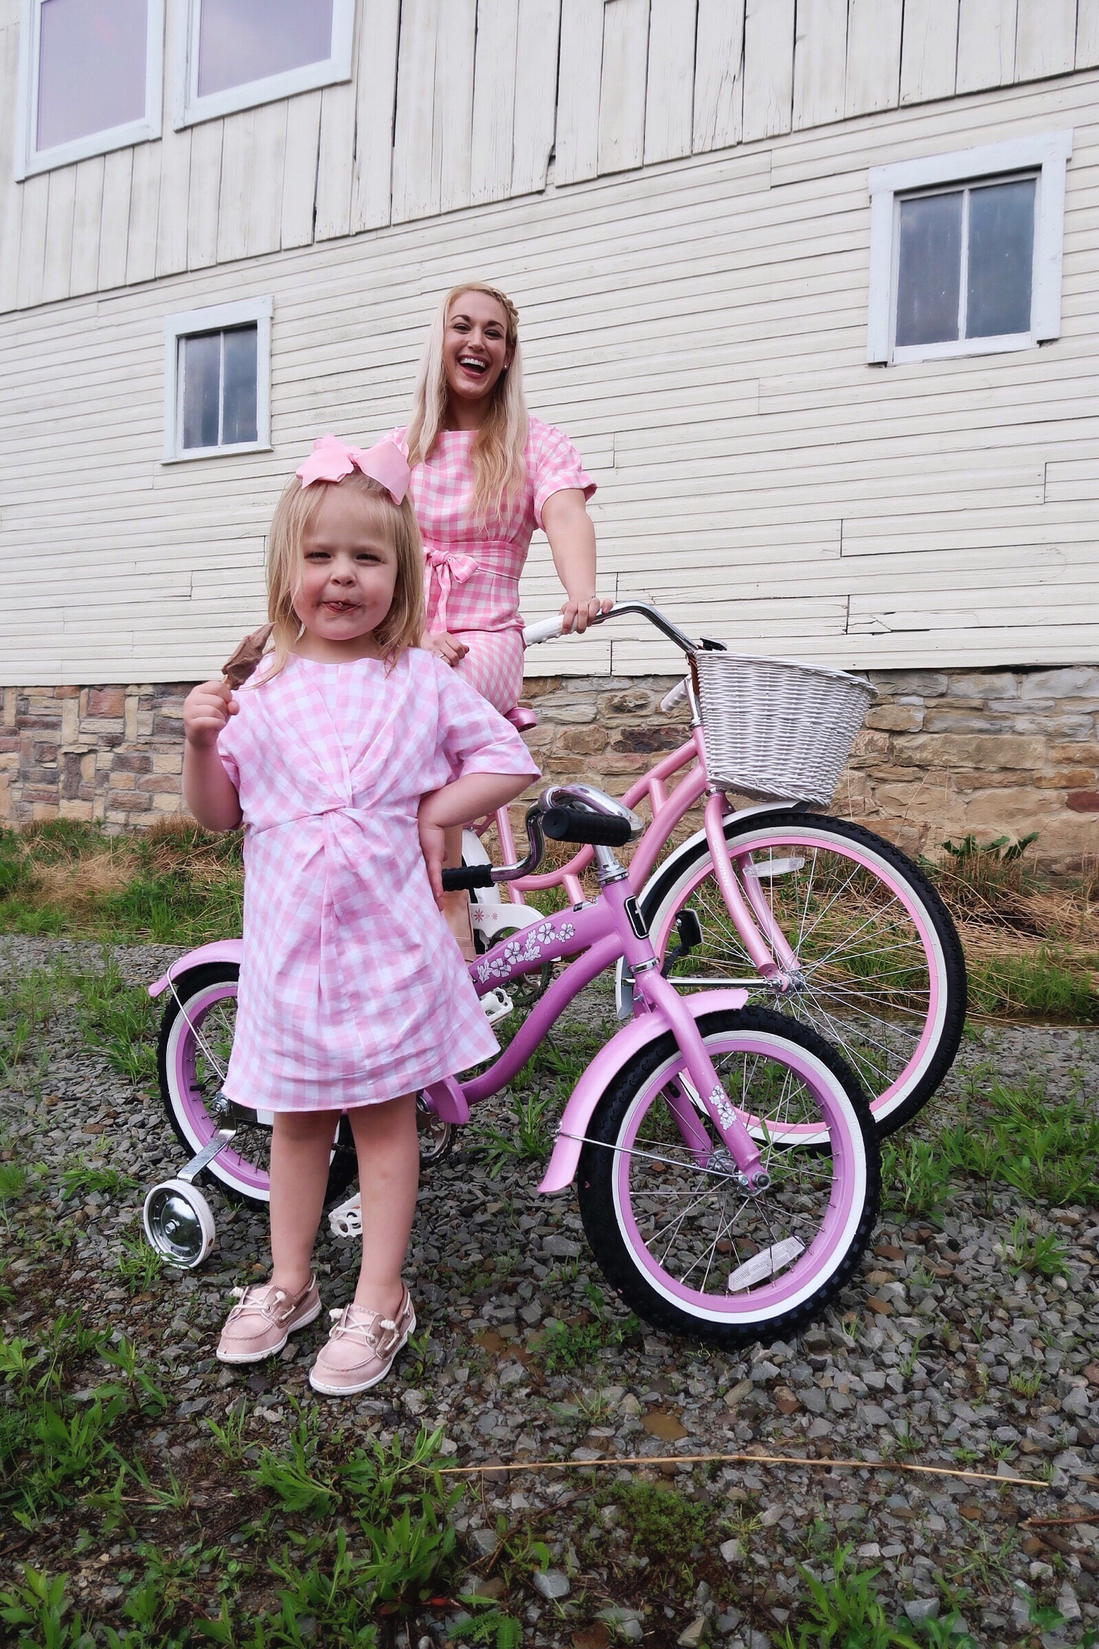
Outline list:
[[[695,1024],[694,1014],[680,994],[662,978],[656,966],[656,953],[648,933],[638,933],[638,907],[628,877],[606,882],[593,904],[573,905],[557,912],[532,927],[499,940],[493,948],[470,963],[470,978],[478,996],[484,996],[507,980],[534,973],[549,961],[577,956],[570,968],[559,975],[544,996],[534,1004],[501,1057],[488,1070],[470,1082],[435,1083],[428,1100],[443,1115],[447,1100],[453,1105],[460,1095],[461,1110],[476,1105],[506,1087],[527,1062],[554,1021],[585,984],[605,968],[613,968],[620,956],[634,971],[634,1012],[659,1016],[672,1031],[684,1054],[687,1073],[702,1100],[715,1133],[750,1186],[763,1174],[760,1149],[751,1139],[737,1108],[730,1103],[720,1083],[713,1062]],[[443,1092],[440,1092],[443,1090]],[[687,1149],[700,1161],[710,1156],[710,1141],[694,1103],[682,1087],[671,1085],[669,1108]],[[451,1120],[458,1120],[455,1115]]]

